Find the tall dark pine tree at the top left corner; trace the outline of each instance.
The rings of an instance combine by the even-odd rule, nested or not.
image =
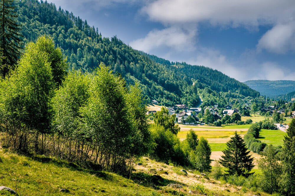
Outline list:
[[[14,11],[13,0],[0,1],[0,48],[3,49],[5,57],[1,66],[1,75],[5,75],[17,63],[22,48],[22,35],[19,33],[20,27],[16,23],[16,11]]]

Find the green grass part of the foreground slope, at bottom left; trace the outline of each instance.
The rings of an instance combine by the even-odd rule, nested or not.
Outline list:
[[[21,195],[63,195],[65,188],[76,195],[150,195],[153,189],[109,172],[76,170],[63,162],[42,163],[25,156],[0,151],[0,185]]]

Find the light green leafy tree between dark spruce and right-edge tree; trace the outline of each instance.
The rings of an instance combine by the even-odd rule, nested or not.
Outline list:
[[[282,167],[276,158],[277,149],[268,145],[263,151],[264,157],[258,161],[258,168],[262,171],[260,187],[268,193],[278,192],[278,182]]]

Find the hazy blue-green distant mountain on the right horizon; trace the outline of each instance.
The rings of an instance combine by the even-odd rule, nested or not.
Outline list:
[[[249,80],[244,83],[269,98],[285,95],[295,90],[295,81],[292,80]]]

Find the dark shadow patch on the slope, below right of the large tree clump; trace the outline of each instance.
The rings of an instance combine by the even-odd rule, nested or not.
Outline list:
[[[168,180],[161,177],[160,175],[148,174],[145,172],[132,173],[130,176],[130,179],[139,185],[142,185],[145,187],[152,187],[154,189],[160,189],[158,186],[167,186],[168,184],[184,185],[175,180]]]

